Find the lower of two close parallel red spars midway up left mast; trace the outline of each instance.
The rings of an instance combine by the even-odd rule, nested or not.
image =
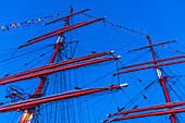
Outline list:
[[[90,61],[76,63],[76,64],[72,64],[72,65],[54,67],[54,69],[51,69],[51,70],[46,70],[46,71],[41,71],[41,72],[38,72],[38,73],[32,73],[32,74],[24,75],[24,76],[21,76],[21,77],[15,77],[15,78],[12,78],[12,79],[2,81],[2,82],[0,82],[0,85],[17,82],[17,81],[22,81],[22,79],[34,78],[34,77],[38,77],[40,75],[48,75],[48,74],[52,74],[54,72],[70,70],[70,69],[89,65],[89,64],[94,64],[94,63],[104,62],[104,61],[109,61],[109,60],[115,60],[115,59],[119,59],[119,58],[121,58],[121,57],[119,56],[119,57],[113,57],[113,58],[102,58],[102,59],[90,60]]]

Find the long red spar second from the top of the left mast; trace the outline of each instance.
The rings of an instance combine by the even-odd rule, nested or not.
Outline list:
[[[44,40],[44,39],[46,39],[46,38],[49,38],[49,37],[52,37],[52,36],[55,36],[55,35],[59,35],[59,34],[62,34],[62,33],[65,33],[65,32],[69,32],[69,30],[71,30],[71,29],[78,28],[78,27],[81,27],[81,26],[85,26],[85,25],[91,24],[91,23],[94,23],[94,22],[104,20],[104,19],[106,19],[106,17],[96,19],[96,20],[92,20],[92,21],[83,22],[83,23],[78,23],[78,24],[75,24],[75,25],[72,25],[72,26],[67,26],[67,27],[63,27],[63,28],[53,30],[53,32],[51,32],[51,33],[48,33],[48,34],[45,34],[45,35],[41,35],[41,36],[39,36],[39,37],[34,38],[32,41],[29,41],[29,42],[27,42],[27,44],[25,44],[25,45],[20,46],[17,49],[20,49],[20,48],[22,48],[22,47],[25,47],[25,46],[28,46],[28,45],[32,45],[32,44],[35,44],[35,42],[37,42],[37,41]]]

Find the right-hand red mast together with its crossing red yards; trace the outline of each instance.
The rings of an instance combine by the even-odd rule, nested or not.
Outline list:
[[[135,115],[130,115],[130,116],[115,118],[115,119],[112,119],[112,120],[104,120],[102,122],[109,123],[109,122],[112,122],[112,121],[120,121],[120,120],[126,120],[126,119],[135,119],[135,118],[150,116],[150,115],[169,114],[170,119],[171,119],[171,122],[172,123],[176,123],[176,120],[175,120],[176,115],[175,115],[175,113],[185,112],[185,109],[172,109],[172,107],[184,106],[185,102],[184,101],[181,101],[181,102],[171,102],[171,99],[169,97],[168,89],[166,89],[166,86],[165,86],[166,77],[162,76],[161,70],[159,67],[159,66],[163,66],[163,65],[183,63],[183,62],[185,62],[185,60],[175,61],[175,62],[169,62],[169,63],[163,63],[163,64],[157,64],[157,62],[162,62],[162,61],[173,60],[173,59],[180,59],[180,58],[184,58],[184,56],[157,60],[156,56],[155,56],[155,50],[153,50],[152,47],[161,45],[161,44],[166,44],[166,42],[170,42],[170,41],[161,42],[161,44],[158,44],[158,45],[151,45],[151,39],[149,38],[149,36],[147,36],[147,39],[149,41],[149,46],[143,47],[143,48],[137,48],[135,50],[144,49],[144,48],[150,48],[153,61],[138,63],[138,64],[133,64],[133,65],[120,67],[118,70],[128,69],[128,67],[139,66],[139,65],[146,65],[146,64],[150,64],[150,63],[155,63],[155,65],[138,67],[138,69],[133,69],[133,70],[127,70],[127,71],[123,71],[123,72],[118,72],[118,73],[114,73],[112,75],[118,75],[118,74],[123,74],[123,73],[128,73],[128,72],[134,72],[134,71],[140,71],[140,70],[156,67],[157,69],[157,74],[158,74],[158,77],[159,77],[159,83],[161,84],[161,86],[163,88],[163,91],[164,91],[166,104],[160,104],[160,106],[153,106],[153,107],[148,107],[148,108],[140,108],[140,109],[122,111],[122,112],[118,112],[118,113],[113,113],[113,114],[108,114],[108,116],[112,118],[113,115],[119,115],[119,114],[127,114],[127,113],[133,113],[133,112],[140,112],[140,111],[147,111],[147,110],[156,110],[156,109],[162,109],[162,108],[168,108],[169,110],[158,111],[158,112],[149,112],[149,113],[143,113],[143,114],[135,114]],[[135,50],[131,50],[131,51],[135,51]]]

